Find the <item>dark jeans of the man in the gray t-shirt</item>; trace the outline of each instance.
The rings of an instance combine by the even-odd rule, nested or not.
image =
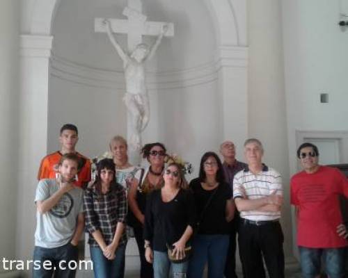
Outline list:
[[[73,278],[78,264],[78,248],[68,243],[61,247],[44,248],[35,246],[33,261],[33,278]],[[71,263],[75,261],[76,263]],[[44,264],[45,262],[45,264]]]

